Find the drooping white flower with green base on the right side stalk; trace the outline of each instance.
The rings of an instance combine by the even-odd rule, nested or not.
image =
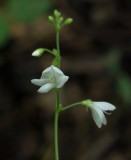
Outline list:
[[[116,109],[114,105],[108,102],[94,102],[91,100],[85,100],[82,104],[91,109],[92,117],[99,128],[101,128],[102,124],[107,124],[104,113],[110,114],[107,111],[113,111]]]

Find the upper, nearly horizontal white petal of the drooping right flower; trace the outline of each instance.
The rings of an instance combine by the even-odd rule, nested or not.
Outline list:
[[[95,104],[95,106],[99,107],[103,111],[108,111],[108,110],[113,111],[114,109],[116,109],[114,105],[108,102],[93,102],[93,103]]]

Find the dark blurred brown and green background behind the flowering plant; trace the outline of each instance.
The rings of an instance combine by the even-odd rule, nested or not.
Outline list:
[[[84,107],[59,122],[61,160],[131,160],[131,1],[0,0],[0,160],[53,160],[53,92],[38,94],[55,48],[47,17],[59,9],[73,24],[61,32],[62,70],[70,77],[65,105],[90,98],[117,107],[98,129]]]

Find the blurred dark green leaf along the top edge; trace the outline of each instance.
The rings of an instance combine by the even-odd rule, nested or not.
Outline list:
[[[51,9],[49,0],[10,0],[9,10],[16,19],[24,22],[33,21]]]

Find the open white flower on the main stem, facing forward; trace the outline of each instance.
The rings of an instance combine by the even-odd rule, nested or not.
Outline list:
[[[53,88],[61,88],[69,79],[55,66],[50,66],[42,72],[40,79],[32,79],[31,82],[40,86],[39,93],[47,93]]]

